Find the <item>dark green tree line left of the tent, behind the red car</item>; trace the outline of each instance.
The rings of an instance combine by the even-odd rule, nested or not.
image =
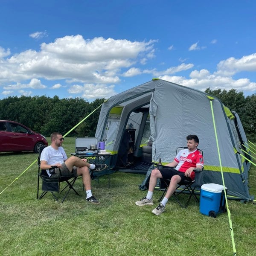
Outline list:
[[[67,133],[84,117],[93,112],[105,99],[89,103],[84,99],[59,99],[58,96],[21,96],[0,100],[0,119],[26,125],[49,137],[53,131]],[[94,137],[100,108],[70,132],[70,137]]]

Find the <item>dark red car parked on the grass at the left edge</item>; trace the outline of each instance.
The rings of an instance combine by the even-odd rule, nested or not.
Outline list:
[[[42,145],[48,145],[42,134],[31,131],[18,122],[0,120],[0,152],[34,151],[39,153]]]

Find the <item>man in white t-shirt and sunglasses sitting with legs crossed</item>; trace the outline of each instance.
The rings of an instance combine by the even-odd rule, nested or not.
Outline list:
[[[87,159],[81,159],[79,157],[69,157],[62,148],[64,138],[61,133],[54,132],[51,134],[51,145],[44,148],[40,157],[40,168],[46,170],[49,177],[56,178],[61,176],[77,177],[83,176],[83,183],[86,190],[86,201],[93,204],[99,204],[99,201],[92,195],[90,169],[96,171],[104,170],[106,164],[90,164],[87,163]],[[50,169],[52,166],[56,166],[55,169]]]

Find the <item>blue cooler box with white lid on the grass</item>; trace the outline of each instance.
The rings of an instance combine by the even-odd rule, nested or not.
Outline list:
[[[224,189],[227,192],[226,187],[215,183],[201,186],[200,212],[202,214],[216,218],[218,213],[226,212]]]

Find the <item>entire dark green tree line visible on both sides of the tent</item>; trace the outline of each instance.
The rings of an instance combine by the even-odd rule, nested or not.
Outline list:
[[[256,142],[256,94],[244,97],[243,92],[235,89],[211,90],[206,93],[217,97],[221,102],[239,114],[248,140]],[[59,99],[58,96],[21,96],[0,100],[0,119],[20,122],[33,131],[47,137],[53,131],[62,134],[70,131],[85,116],[94,111],[105,99],[87,102],[81,98]],[[98,123],[100,108],[84,120],[69,136],[94,137]]]

